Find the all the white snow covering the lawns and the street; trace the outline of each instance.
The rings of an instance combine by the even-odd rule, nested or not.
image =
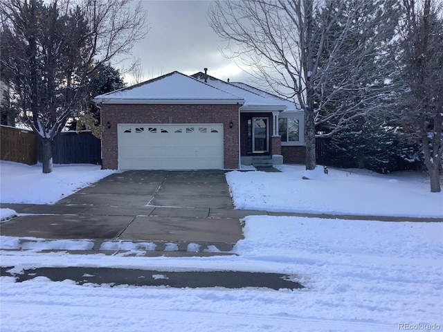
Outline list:
[[[1,163],[1,202],[39,195],[33,167]],[[22,165],[14,164],[12,169]],[[80,170],[77,168],[80,167]],[[71,189],[106,176],[92,165],[55,166]],[[34,167],[37,169],[37,167]],[[421,175],[357,170],[229,172],[237,208],[443,217],[443,194]],[[21,176],[25,180],[22,180]],[[91,180],[86,174],[91,175]],[[93,174],[93,175],[92,175]],[[310,179],[302,180],[305,174]],[[16,185],[3,186],[3,181]],[[6,189],[8,188],[8,189]],[[10,191],[9,191],[10,190]],[[8,193],[6,192],[8,191]],[[34,194],[33,194],[34,193]],[[61,195],[63,193],[64,195]],[[58,195],[58,196],[57,196]],[[55,197],[55,198],[53,198]],[[44,203],[43,199],[39,201]],[[123,257],[1,252],[1,266],[106,266],[159,270],[244,270],[297,275],[298,291],[78,286],[39,277],[1,277],[1,331],[438,331],[443,329],[443,223],[248,216],[230,257]],[[12,241],[5,239],[3,242]]]

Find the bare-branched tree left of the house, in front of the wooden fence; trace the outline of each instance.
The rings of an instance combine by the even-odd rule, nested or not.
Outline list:
[[[147,29],[130,0],[0,0],[1,57],[22,120],[42,142],[43,172],[51,145],[87,95],[98,66],[130,53]]]

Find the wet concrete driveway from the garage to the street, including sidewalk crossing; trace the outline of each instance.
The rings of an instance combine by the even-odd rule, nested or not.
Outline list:
[[[111,174],[54,205],[1,204],[21,215],[0,234],[42,239],[151,241],[156,250],[230,251],[243,238],[223,171],[126,171]],[[169,243],[169,244],[168,244]],[[171,245],[170,243],[173,243]],[[169,249],[168,249],[169,248]],[[209,250],[210,251],[210,250]]]

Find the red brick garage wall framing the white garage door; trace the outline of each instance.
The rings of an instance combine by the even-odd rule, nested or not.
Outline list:
[[[102,104],[102,167],[117,169],[119,123],[222,123],[224,168],[236,169],[238,156],[238,105],[213,104]],[[233,128],[229,127],[233,122]],[[107,128],[107,122],[111,128]]]

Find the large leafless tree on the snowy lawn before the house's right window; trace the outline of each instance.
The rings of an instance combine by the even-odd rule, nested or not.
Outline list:
[[[372,70],[388,58],[398,15],[397,0],[244,0],[217,1],[209,19],[233,57],[305,111],[314,169],[316,126],[331,136],[385,108],[392,80]]]

